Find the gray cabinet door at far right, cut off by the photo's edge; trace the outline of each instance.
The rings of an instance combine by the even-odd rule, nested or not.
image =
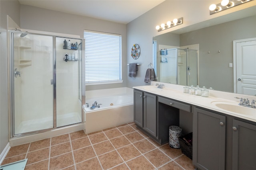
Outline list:
[[[233,120],[233,170],[256,170],[256,125]]]

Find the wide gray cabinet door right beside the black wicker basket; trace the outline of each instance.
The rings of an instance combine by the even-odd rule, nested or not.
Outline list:
[[[193,114],[193,163],[202,170],[225,169],[226,117],[195,108]]]

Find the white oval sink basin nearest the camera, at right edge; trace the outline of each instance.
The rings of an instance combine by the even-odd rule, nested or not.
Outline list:
[[[251,107],[240,106],[238,105],[238,103],[235,102],[216,101],[211,102],[211,104],[214,104],[216,107],[219,107],[220,109],[224,109],[226,111],[232,111],[234,113],[256,117],[256,109]]]

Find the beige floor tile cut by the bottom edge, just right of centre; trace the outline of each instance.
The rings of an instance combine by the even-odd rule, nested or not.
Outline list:
[[[139,156],[138,158],[134,158],[126,164],[129,166],[131,170],[154,170],[154,166],[144,158],[144,156]]]

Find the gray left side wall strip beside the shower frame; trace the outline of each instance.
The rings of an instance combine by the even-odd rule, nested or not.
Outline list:
[[[9,142],[9,113],[8,113],[8,40],[7,15],[20,25],[20,4],[17,0],[0,0],[0,152]]]

